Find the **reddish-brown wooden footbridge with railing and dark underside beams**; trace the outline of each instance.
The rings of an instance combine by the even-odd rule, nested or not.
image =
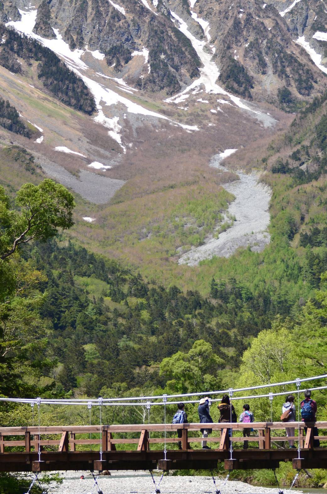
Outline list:
[[[206,439],[211,444],[211,449],[208,450],[191,447],[192,444],[202,441],[202,437],[195,436],[195,433],[204,427],[204,424],[199,423],[1,427],[0,471],[103,471],[155,470],[156,468],[167,471],[189,468],[214,469],[218,462],[224,462],[226,470],[274,469],[278,468],[282,461],[292,462],[293,468],[298,470],[327,468],[327,448],[313,447],[314,439],[318,438],[314,436],[313,427],[323,432],[324,429],[327,430],[327,422],[207,425],[212,428],[211,436]],[[285,426],[299,430],[299,437],[287,438]],[[306,434],[304,427],[307,428]],[[245,428],[253,428],[253,436],[243,437]],[[175,437],[177,429],[182,430],[180,439]],[[229,447],[228,429],[232,429],[234,434],[232,453]],[[299,440],[299,452],[296,449],[283,448],[283,443],[288,439]],[[327,436],[320,435],[319,439],[327,441]],[[181,441],[181,450],[176,449],[175,446],[171,447],[178,441]],[[248,441],[254,447],[250,446],[249,449],[244,450],[243,441]],[[126,449],[131,444],[136,445],[136,449]],[[165,454],[163,444],[166,449]],[[125,448],[121,449],[123,445]],[[159,449],[156,449],[156,445]]]

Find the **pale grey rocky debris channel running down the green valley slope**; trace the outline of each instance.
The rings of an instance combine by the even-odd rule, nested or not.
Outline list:
[[[222,171],[229,171],[221,166],[221,161],[228,156],[228,151],[215,155],[210,166]],[[231,154],[231,153],[229,153]],[[272,191],[270,187],[259,182],[260,174],[252,172],[246,174],[238,171],[239,180],[234,180],[224,185],[224,188],[234,194],[233,201],[228,213],[235,216],[233,225],[219,237],[208,237],[204,245],[193,247],[185,252],[178,260],[179,264],[195,266],[204,259],[211,259],[213,256],[229,257],[234,254],[238,247],[250,246],[252,251],[260,252],[270,242],[270,235],[267,227],[270,221],[269,201]]]

